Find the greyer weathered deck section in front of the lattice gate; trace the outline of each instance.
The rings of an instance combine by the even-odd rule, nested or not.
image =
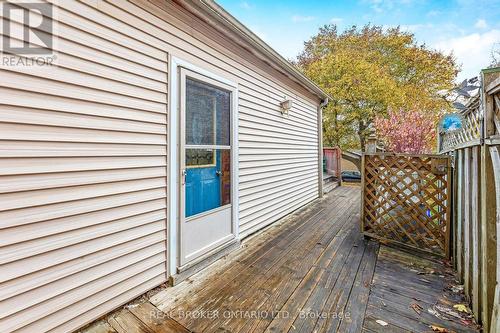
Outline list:
[[[379,319],[388,323],[383,327],[388,332],[428,332],[431,325],[452,332],[476,332],[476,327],[463,325],[459,318],[445,318],[442,312],[439,318],[429,312],[436,311],[436,305],[453,311],[453,305],[465,303],[463,294],[449,290],[448,287],[455,284],[453,272],[442,260],[382,246],[364,328],[381,329],[382,326],[376,323]],[[419,311],[412,308],[415,305],[420,307]]]

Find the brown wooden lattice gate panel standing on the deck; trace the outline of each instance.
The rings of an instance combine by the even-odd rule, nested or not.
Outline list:
[[[450,163],[442,155],[363,155],[363,233],[448,257]]]

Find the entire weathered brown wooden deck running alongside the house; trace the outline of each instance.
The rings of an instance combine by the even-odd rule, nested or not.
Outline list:
[[[359,198],[359,187],[339,187],[86,332],[473,331],[429,312],[463,301],[445,291],[454,281],[441,262],[363,239]]]

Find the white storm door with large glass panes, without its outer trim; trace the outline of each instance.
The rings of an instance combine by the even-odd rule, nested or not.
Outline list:
[[[234,88],[180,69],[180,266],[235,238],[232,216]]]

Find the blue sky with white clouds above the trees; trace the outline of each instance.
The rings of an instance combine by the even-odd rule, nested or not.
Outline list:
[[[400,26],[419,44],[449,54],[462,71],[458,80],[479,74],[500,49],[500,0],[217,0],[287,59],[302,50],[319,27],[340,30],[367,23]]]

